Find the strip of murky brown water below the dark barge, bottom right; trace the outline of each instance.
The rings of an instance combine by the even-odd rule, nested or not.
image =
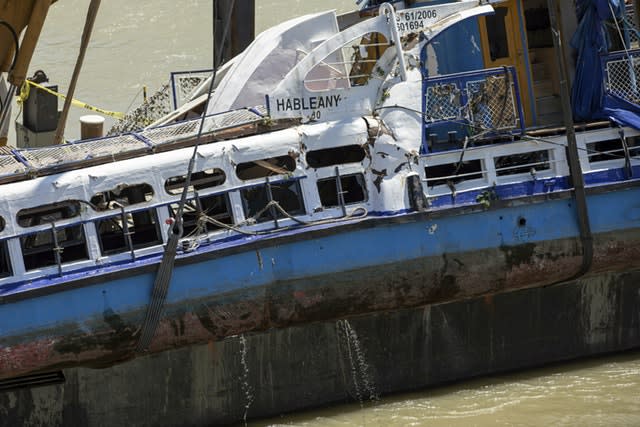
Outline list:
[[[640,353],[250,422],[266,426],[640,426]]]

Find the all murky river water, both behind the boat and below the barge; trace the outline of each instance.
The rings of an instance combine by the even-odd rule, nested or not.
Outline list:
[[[256,0],[257,30],[352,0]],[[88,0],[60,0],[32,62],[66,91]],[[127,111],[171,71],[211,67],[211,0],[102,2],[76,98]],[[74,109],[67,139],[79,137]],[[640,353],[484,378],[375,404],[338,406],[251,426],[640,426]]]

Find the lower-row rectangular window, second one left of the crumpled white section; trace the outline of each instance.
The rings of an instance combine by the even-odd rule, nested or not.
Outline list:
[[[286,215],[270,202],[277,202],[287,215],[303,215],[304,201],[298,180],[256,185],[240,191],[244,214],[247,219],[265,222],[284,218]]]

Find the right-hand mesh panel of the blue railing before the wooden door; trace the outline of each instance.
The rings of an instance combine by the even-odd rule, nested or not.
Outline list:
[[[476,131],[510,130],[520,126],[513,87],[505,75],[467,82],[469,118]]]

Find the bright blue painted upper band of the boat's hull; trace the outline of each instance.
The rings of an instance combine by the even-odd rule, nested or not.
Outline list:
[[[503,189],[497,188],[496,192],[501,194]],[[504,193],[508,193],[506,188]],[[639,208],[638,200],[639,188],[589,196],[594,233],[639,228],[640,218],[628,215]],[[616,209],[611,210],[610,206],[616,206]],[[519,218],[526,218],[526,229],[519,230]],[[203,245],[196,251],[182,253],[178,257],[167,304],[188,304],[205,296],[250,291],[282,281],[339,274],[372,265],[573,238],[579,234],[575,208],[570,199],[523,203],[521,206],[436,219],[412,219],[407,223],[383,226],[375,226],[375,221],[375,218],[359,221],[363,224],[359,229],[286,244],[269,244],[272,236],[252,236],[240,241],[215,242]],[[483,224],[483,227],[478,227],[478,224]],[[426,231],[434,226],[437,226],[436,232]],[[278,234],[280,237],[293,237],[320,228],[323,226],[299,227]],[[180,263],[181,260],[215,254],[224,249],[241,248],[256,241],[262,241],[264,248],[192,264]],[[154,271],[138,271],[141,267],[156,265],[160,255],[139,258],[124,265],[66,273],[63,277],[23,283],[20,287],[3,286],[0,290],[3,298],[45,288],[49,288],[51,293],[10,303],[0,302],[1,336],[23,335],[25,340],[32,340],[31,334],[37,334],[45,326],[74,325],[82,328],[92,319],[102,321],[107,311],[127,313],[142,310],[148,303]],[[125,274],[131,271],[131,274],[119,279],[99,279],[101,275],[116,271]],[[59,292],[56,290],[57,287],[64,288],[66,282],[90,278],[99,279],[100,283]],[[25,313],[29,313],[29,316],[25,316]]]

